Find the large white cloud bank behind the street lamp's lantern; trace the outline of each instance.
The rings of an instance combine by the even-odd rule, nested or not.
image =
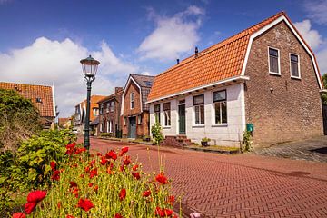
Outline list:
[[[74,113],[74,105],[86,95],[79,61],[88,54],[92,54],[101,63],[92,94],[111,94],[114,86],[124,85],[127,74],[138,70],[134,65],[117,58],[105,42],[101,43],[99,51],[88,51],[70,39],[58,42],[40,37],[32,45],[7,54],[0,53],[0,81],[48,85],[54,83],[60,116],[68,116]]]

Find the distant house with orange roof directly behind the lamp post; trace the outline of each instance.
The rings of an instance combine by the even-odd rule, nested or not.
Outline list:
[[[92,95],[90,99],[90,134],[97,134],[96,120],[99,115],[98,101],[102,100],[105,96],[103,95]],[[86,118],[86,99],[75,105],[74,113],[74,129],[80,134],[84,134],[85,118]]]

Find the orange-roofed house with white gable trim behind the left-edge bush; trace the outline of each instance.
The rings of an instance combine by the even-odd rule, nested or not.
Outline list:
[[[40,112],[43,128],[54,128],[54,119],[57,115],[54,86],[0,82],[0,89],[15,90],[18,94],[30,99]]]

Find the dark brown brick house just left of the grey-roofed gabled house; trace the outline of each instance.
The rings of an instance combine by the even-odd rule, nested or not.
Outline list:
[[[123,87],[115,87],[114,94],[104,97],[98,102],[99,104],[99,124],[98,133],[110,133],[114,136],[121,130],[121,103],[122,103]]]

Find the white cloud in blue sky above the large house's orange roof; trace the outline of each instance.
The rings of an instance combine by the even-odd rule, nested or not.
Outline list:
[[[149,16],[154,18],[156,27],[137,49],[141,59],[173,60],[193,50],[200,40],[202,15],[204,10],[194,5],[172,17],[156,15],[150,10]]]

